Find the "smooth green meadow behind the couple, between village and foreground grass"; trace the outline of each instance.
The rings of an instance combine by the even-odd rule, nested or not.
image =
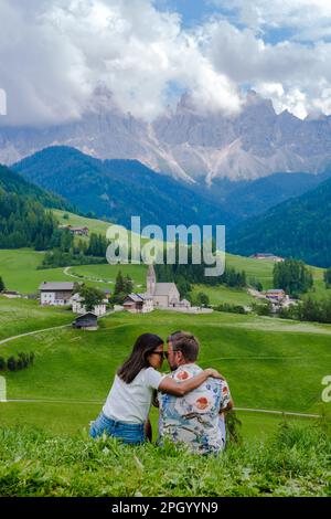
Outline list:
[[[36,322],[35,304],[24,305],[28,304],[31,321]],[[29,326],[24,328],[15,318],[24,305],[17,301],[15,311],[9,315],[6,325],[9,335],[29,331]],[[66,322],[65,310],[54,311],[56,316],[57,313],[58,322]],[[40,328],[44,324],[38,321]],[[8,399],[38,401],[0,405],[1,423],[39,425],[66,435],[87,428],[136,337],[145,331],[167,337],[174,329],[189,329],[199,337],[200,364],[213,366],[226,377],[237,407],[330,412],[328,404],[321,402],[321,380],[331,361],[330,326],[228,314],[192,319],[190,315],[154,311],[142,316],[111,315],[100,321],[100,329],[94,333],[64,328],[0,346],[4,357],[25,350],[35,352],[33,367],[7,372],[6,378]],[[280,420],[247,412],[241,412],[239,417],[244,435],[250,439],[269,435]],[[156,411],[152,421],[157,423]]]

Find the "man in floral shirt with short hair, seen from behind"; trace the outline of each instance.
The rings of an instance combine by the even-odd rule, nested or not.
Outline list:
[[[175,332],[168,339],[171,377],[181,382],[202,369],[195,363],[199,342],[192,333]],[[199,454],[218,454],[225,446],[224,412],[233,406],[225,380],[207,379],[200,388],[178,398],[159,392],[160,441],[182,442]]]

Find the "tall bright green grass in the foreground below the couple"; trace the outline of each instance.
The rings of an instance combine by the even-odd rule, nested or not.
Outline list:
[[[173,444],[0,427],[0,496],[330,496],[327,425],[280,424],[264,444],[200,457]]]

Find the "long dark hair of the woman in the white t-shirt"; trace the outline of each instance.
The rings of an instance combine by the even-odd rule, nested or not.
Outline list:
[[[154,333],[142,333],[136,340],[130,357],[118,369],[118,377],[127,384],[132,382],[139,371],[149,368],[148,357],[161,345],[163,345],[161,337]]]

